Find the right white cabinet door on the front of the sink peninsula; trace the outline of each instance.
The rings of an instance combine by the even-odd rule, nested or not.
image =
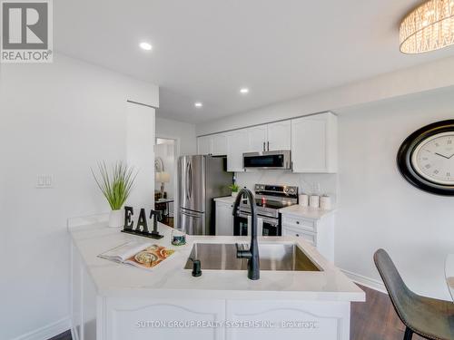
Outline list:
[[[350,303],[227,300],[226,340],[348,340]]]

